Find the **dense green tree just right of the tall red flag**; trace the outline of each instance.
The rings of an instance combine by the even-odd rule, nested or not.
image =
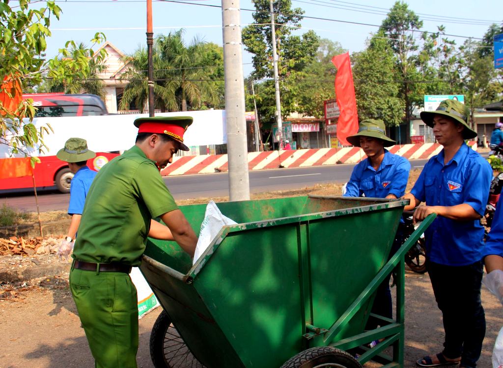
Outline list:
[[[381,119],[393,127],[403,121],[405,102],[400,97],[400,73],[390,45],[376,35],[366,50],[354,53],[353,77],[355,80],[358,118]]]

